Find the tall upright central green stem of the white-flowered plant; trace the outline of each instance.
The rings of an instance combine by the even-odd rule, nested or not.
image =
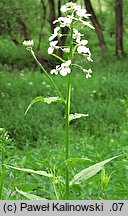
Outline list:
[[[70,29],[70,53],[69,58],[72,61],[73,55],[73,25]],[[72,70],[72,66],[70,67]],[[71,100],[71,73],[68,74],[68,85],[67,85],[67,97],[66,97],[66,155],[65,159],[69,158],[69,144],[70,144],[70,134],[69,134],[69,115],[70,115],[70,100]],[[66,196],[65,198],[69,200],[69,170],[66,166]]]

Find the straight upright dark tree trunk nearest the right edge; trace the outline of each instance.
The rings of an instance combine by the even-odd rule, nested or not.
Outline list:
[[[123,14],[122,0],[116,0],[116,55],[118,58],[123,56]]]

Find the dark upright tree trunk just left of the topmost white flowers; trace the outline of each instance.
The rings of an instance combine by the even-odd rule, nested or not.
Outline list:
[[[50,18],[49,18],[49,20],[50,20],[52,33],[54,33],[55,25],[53,24],[53,21],[56,19],[54,0],[49,0],[49,7],[50,7]]]

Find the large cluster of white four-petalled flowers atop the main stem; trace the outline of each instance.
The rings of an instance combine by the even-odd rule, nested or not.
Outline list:
[[[79,32],[76,28],[74,28],[75,24],[77,22],[80,22],[82,26],[88,26],[90,28],[94,27],[90,24],[90,22],[87,21],[87,19],[90,17],[90,14],[87,13],[86,9],[81,8],[80,5],[77,5],[73,2],[68,2],[65,5],[61,7],[61,12],[64,13],[65,16],[59,17],[57,20],[55,20],[53,23],[58,24],[58,26],[54,29],[54,33],[49,38],[50,41],[50,47],[48,48],[48,54],[51,55],[54,53],[55,50],[61,49],[63,52],[70,53],[70,46],[61,47],[58,44],[58,38],[63,36],[61,34],[61,28],[68,27],[71,29],[71,26],[73,28],[73,56],[75,53],[81,54],[86,57],[88,61],[93,61],[91,58],[91,52],[90,49],[86,46],[88,44],[87,40],[82,39],[84,34]],[[57,65],[56,69],[53,69],[50,71],[51,74],[61,74],[62,76],[66,76],[68,73],[71,72],[71,60],[66,60],[61,65]],[[82,69],[83,72],[86,72],[86,78],[91,77],[91,69],[86,70]]]

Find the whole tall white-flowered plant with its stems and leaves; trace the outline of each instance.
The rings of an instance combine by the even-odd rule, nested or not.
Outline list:
[[[56,195],[56,199],[69,199],[70,198],[70,187],[72,187],[75,184],[80,184],[82,181],[94,176],[97,172],[99,172],[102,167],[111,161],[113,158],[104,160],[102,162],[99,162],[97,164],[94,164],[81,172],[77,173],[72,180],[70,180],[69,176],[69,169],[70,164],[75,161],[83,161],[89,160],[88,158],[70,158],[70,133],[69,133],[69,127],[70,122],[74,119],[79,119],[82,117],[87,117],[88,114],[71,114],[70,113],[70,101],[71,101],[71,75],[73,75],[73,67],[79,67],[82,72],[85,73],[86,78],[90,78],[92,75],[91,69],[84,69],[81,65],[74,63],[74,57],[76,54],[79,54],[83,56],[84,60],[92,62],[91,52],[90,49],[87,47],[88,41],[84,39],[84,34],[80,32],[80,30],[76,29],[76,27],[80,26],[80,29],[83,27],[89,27],[91,29],[94,29],[94,27],[90,24],[88,21],[90,14],[87,13],[87,11],[81,6],[77,5],[76,3],[68,2],[65,5],[61,7],[61,12],[64,14],[64,16],[59,17],[57,20],[54,21],[54,24],[57,25],[57,27],[54,29],[54,33],[52,36],[49,37],[50,47],[48,48],[48,54],[56,57],[59,59],[62,63],[57,65],[54,69],[50,71],[50,74],[47,73],[47,71],[44,69],[44,67],[40,64],[40,62],[37,60],[34,51],[33,51],[33,40],[31,41],[24,41],[23,44],[27,48],[27,50],[32,54],[33,58],[39,65],[39,67],[43,70],[43,72],[46,74],[48,79],[50,80],[52,86],[56,90],[58,96],[57,97],[47,97],[44,98],[42,96],[36,97],[33,99],[28,106],[26,113],[30,109],[30,107],[38,102],[41,101],[43,103],[50,104],[52,102],[60,102],[63,103],[65,106],[65,130],[66,130],[66,143],[65,143],[65,179],[64,181],[61,180],[60,177],[56,176],[56,169],[54,171],[51,171],[51,173],[47,173],[45,171],[34,171],[30,169],[22,169],[17,167],[11,167],[13,169],[29,172],[29,173],[35,173],[38,175],[43,175],[45,177],[51,178],[53,183],[54,192]],[[61,33],[61,29],[67,27],[68,28],[68,36],[69,36],[69,43],[65,46],[61,46],[61,44],[58,43],[58,39],[60,37],[63,37]],[[61,49],[65,55],[65,58],[62,58],[56,54],[56,50]],[[59,91],[58,87],[54,83],[52,79],[52,75],[58,75],[61,76],[67,76],[67,95],[66,99],[62,96],[61,92]],[[60,192],[61,187],[61,192]],[[26,195],[25,192],[19,191],[24,196]],[[35,197],[37,198],[37,196]]]

